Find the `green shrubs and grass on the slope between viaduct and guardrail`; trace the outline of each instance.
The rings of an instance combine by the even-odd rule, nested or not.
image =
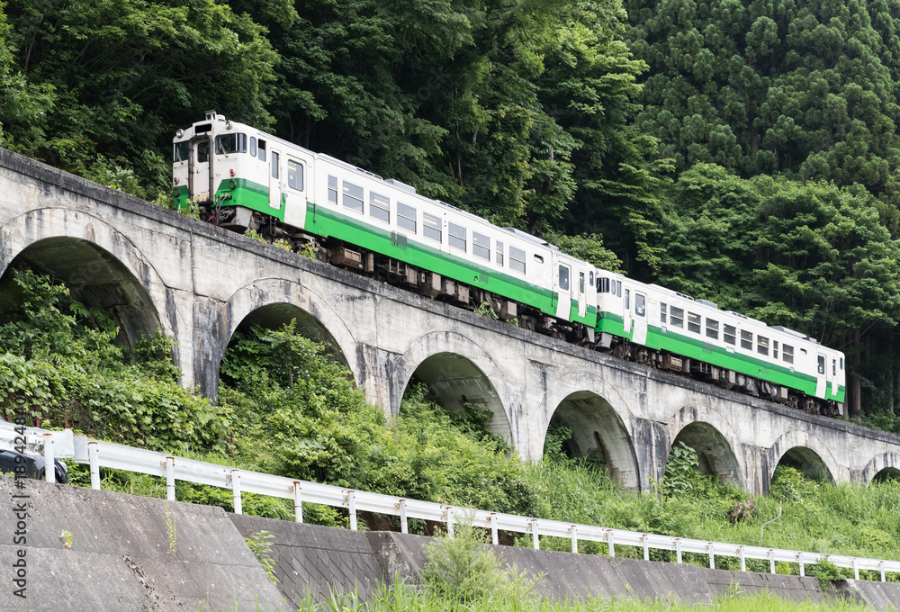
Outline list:
[[[387,418],[356,389],[346,367],[326,347],[283,329],[254,327],[232,342],[221,368],[220,404],[213,407],[175,383],[177,370],[166,338],[131,351],[111,344],[114,329],[46,276],[16,270],[0,284],[0,395],[6,419],[40,419],[44,427],[68,425],[132,446],[234,465],[240,469],[326,482],[437,501],[744,545],[766,545],[831,554],[900,560],[900,482],[869,488],[830,485],[780,466],[769,497],[751,498],[698,472],[697,457],[674,448],[663,482],[634,493],[611,482],[596,457],[564,455],[564,432],[548,436],[545,459],[523,464],[484,423],[485,410],[447,412],[428,401],[427,388],[412,383],[401,413]],[[70,467],[73,481],[89,486],[84,465]],[[103,488],[166,496],[161,479],[103,470]],[[177,499],[232,509],[231,491],[177,483]],[[739,502],[755,505],[731,522]],[[783,502],[782,518],[776,518]],[[304,505],[308,521],[346,526],[344,510]],[[289,500],[245,494],[248,514],[293,519]],[[364,515],[369,528],[399,529],[396,518]],[[412,521],[416,533],[437,527]],[[502,534],[506,544],[531,545],[530,536]],[[545,537],[541,547],[569,550],[568,539]],[[581,542],[581,552],[607,554],[606,545]],[[617,546],[617,556],[643,551]],[[653,551],[653,559],[674,560]],[[687,563],[706,566],[704,555]],[[737,559],[716,557],[719,568]],[[767,571],[766,562],[748,561]],[[796,564],[779,572],[797,573]],[[807,566],[822,577],[850,577],[848,570]],[[878,579],[874,573],[870,579]],[[892,581],[900,575],[889,574]]]

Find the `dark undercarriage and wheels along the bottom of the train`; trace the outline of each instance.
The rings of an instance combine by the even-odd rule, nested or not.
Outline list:
[[[237,210],[235,210],[237,209]],[[280,221],[259,212],[247,214],[239,207],[201,206],[202,219],[215,225],[244,233],[253,229],[270,242],[283,241],[293,251],[345,270],[375,278],[439,302],[446,302],[492,319],[518,325],[545,336],[559,338],[581,347],[590,347],[619,359],[647,365],[654,369],[714,384],[722,389],[742,392],[752,397],[775,401],[807,414],[842,416],[843,407],[834,401],[810,397],[784,385],[770,383],[739,374],[698,359],[668,351],[658,351],[633,344],[627,338],[608,333],[595,334],[593,329],[572,321],[558,320],[527,305],[512,302],[478,287],[460,283],[392,257],[366,250],[334,238],[322,239],[302,230],[284,226]]]

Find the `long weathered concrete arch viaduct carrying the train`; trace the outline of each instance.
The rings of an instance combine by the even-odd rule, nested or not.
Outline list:
[[[212,398],[242,322],[296,319],[384,410],[400,410],[415,374],[450,410],[489,408],[491,429],[527,460],[540,458],[555,419],[572,429],[574,452],[598,449],[629,488],[662,479],[678,441],[705,471],[755,493],[785,459],[836,482],[900,474],[900,437],[423,299],[0,149],[0,275],[17,262],[112,311],[128,338],[173,336],[184,384]]]

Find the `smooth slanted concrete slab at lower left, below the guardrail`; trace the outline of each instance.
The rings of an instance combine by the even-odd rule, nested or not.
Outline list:
[[[195,612],[286,609],[220,508],[0,476],[0,612]],[[27,498],[14,498],[27,495]],[[14,544],[23,503],[24,543]],[[173,526],[170,531],[170,527]],[[65,548],[64,530],[71,547]],[[170,536],[171,533],[171,536]],[[170,550],[170,542],[174,550]],[[25,599],[13,563],[24,551]],[[259,608],[257,608],[257,603]]]

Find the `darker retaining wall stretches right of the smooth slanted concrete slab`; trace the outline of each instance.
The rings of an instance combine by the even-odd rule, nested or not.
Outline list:
[[[328,597],[356,591],[365,600],[378,581],[399,576],[419,584],[432,538],[392,532],[353,532],[300,525],[269,518],[230,515],[244,536],[259,531],[275,535],[273,558],[284,597],[299,602],[309,591]],[[498,546],[494,550],[509,565],[530,576],[544,575],[537,595],[550,598],[653,599],[711,603],[716,596],[740,589],[746,595],[769,590],[790,601],[821,601],[815,578],[727,572],[675,563],[612,559],[594,554],[535,551]]]

